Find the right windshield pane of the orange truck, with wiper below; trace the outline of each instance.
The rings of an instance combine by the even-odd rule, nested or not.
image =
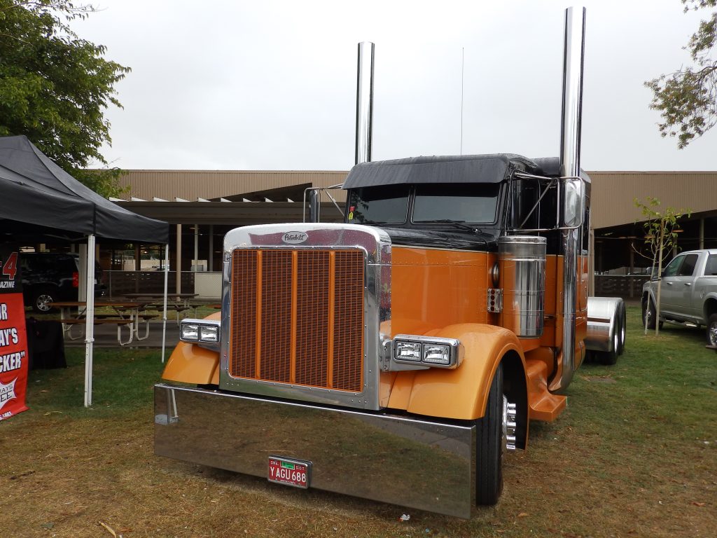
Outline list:
[[[490,224],[495,222],[499,192],[497,183],[418,185],[412,221]]]

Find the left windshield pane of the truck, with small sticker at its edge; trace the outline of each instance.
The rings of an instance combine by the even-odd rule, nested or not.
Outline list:
[[[354,189],[348,199],[347,221],[353,224],[403,224],[408,214],[409,186]]]

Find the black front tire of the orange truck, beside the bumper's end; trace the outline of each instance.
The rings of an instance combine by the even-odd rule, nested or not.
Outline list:
[[[475,504],[493,505],[503,491],[503,364],[495,371],[485,415],[476,425]]]

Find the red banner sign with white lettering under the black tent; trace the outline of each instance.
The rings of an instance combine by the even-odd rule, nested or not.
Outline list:
[[[18,252],[0,245],[0,420],[27,410],[27,333]]]

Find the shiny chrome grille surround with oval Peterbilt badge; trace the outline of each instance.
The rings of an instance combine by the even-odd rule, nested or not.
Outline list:
[[[303,232],[307,238],[298,245],[287,245],[282,242],[285,232]],[[232,252],[235,249],[272,248],[355,248],[364,251],[364,390],[361,392],[239,379],[229,375]],[[224,237],[222,354],[219,369],[219,387],[222,390],[379,410],[388,405],[389,398],[388,387],[382,387],[380,382],[380,361],[385,352],[383,333],[391,334],[391,239],[383,230],[363,225],[301,223],[246,226],[231,230]]]

